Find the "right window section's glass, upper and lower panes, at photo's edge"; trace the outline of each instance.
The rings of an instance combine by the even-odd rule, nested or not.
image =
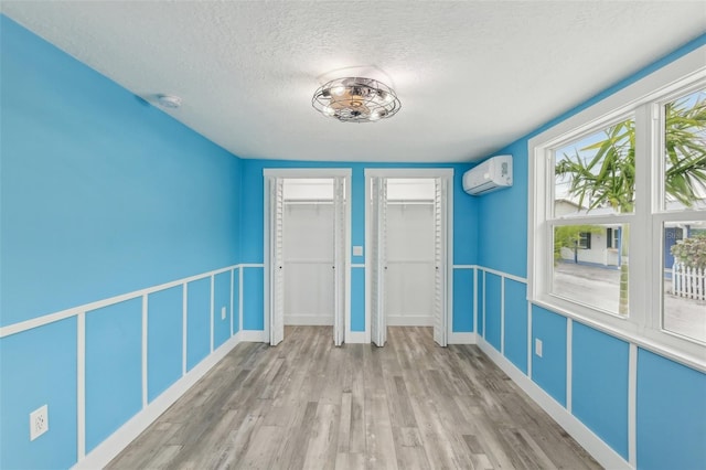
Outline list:
[[[706,343],[706,87],[661,104],[660,114],[661,327]]]

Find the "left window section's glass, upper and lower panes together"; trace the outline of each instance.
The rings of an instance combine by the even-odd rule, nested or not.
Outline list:
[[[634,220],[634,151],[630,150],[634,126],[632,115],[621,116],[547,149],[554,173],[547,222],[554,226],[555,250],[548,293],[618,317],[625,317],[629,309],[630,284],[621,280],[628,270],[629,244],[618,254],[603,244],[592,248],[591,238],[612,241],[613,232],[621,231],[607,221],[629,227]]]

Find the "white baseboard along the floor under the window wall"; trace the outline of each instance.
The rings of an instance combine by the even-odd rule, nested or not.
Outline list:
[[[512,362],[490,345],[483,338],[478,339],[478,345],[505,374],[516,383],[530,397],[561,426],[574,439],[578,441],[598,463],[607,469],[630,470],[632,467],[610,446],[603,442],[576,416],[571,415],[564,406],[556,402],[542,387],[535,384]]]

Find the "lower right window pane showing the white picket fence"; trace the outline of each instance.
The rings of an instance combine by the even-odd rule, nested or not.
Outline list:
[[[662,327],[706,342],[706,221],[664,224]]]

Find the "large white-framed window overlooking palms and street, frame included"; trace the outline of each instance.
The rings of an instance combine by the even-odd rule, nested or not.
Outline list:
[[[532,138],[528,149],[531,300],[699,368],[704,49]]]

